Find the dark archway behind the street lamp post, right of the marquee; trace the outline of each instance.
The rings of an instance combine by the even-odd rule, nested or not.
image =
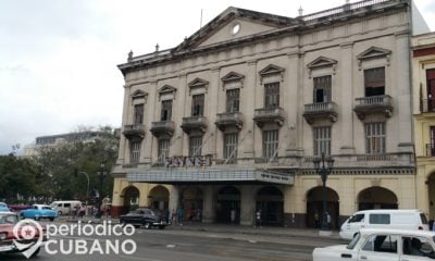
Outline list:
[[[326,187],[326,211],[331,215],[333,229],[339,228],[339,198],[338,194]],[[307,227],[320,228],[323,217],[322,187],[312,188],[307,194]]]

